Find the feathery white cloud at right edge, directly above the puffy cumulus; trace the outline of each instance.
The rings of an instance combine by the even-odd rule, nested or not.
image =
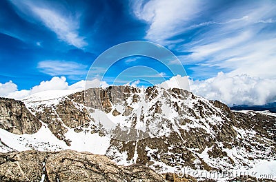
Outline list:
[[[252,37],[239,36],[195,47],[195,52],[185,59],[190,63],[202,63],[202,60],[208,59],[202,64],[232,70],[230,74],[233,76],[249,74],[251,77],[275,78],[276,37],[252,41]]]

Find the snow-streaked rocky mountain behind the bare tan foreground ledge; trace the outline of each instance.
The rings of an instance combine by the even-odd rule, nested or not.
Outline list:
[[[197,179],[214,177],[195,172],[217,172],[224,179],[233,179],[233,172],[259,175],[264,168],[275,174],[273,113],[231,111],[176,88],[78,91],[0,99],[1,152],[86,151],[159,173],[185,170]]]

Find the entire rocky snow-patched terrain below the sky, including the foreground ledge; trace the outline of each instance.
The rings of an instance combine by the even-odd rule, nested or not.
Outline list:
[[[177,88],[112,86],[1,98],[0,128],[1,181],[276,177],[275,114],[232,111]]]

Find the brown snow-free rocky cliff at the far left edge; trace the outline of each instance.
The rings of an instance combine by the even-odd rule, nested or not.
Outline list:
[[[33,134],[41,128],[41,122],[23,102],[0,98],[0,128],[14,134]]]

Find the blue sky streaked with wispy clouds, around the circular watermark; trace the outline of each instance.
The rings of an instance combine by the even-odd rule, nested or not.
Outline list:
[[[241,79],[240,87],[250,79],[275,81],[275,30],[273,0],[3,0],[0,83],[3,86],[12,81],[16,90],[30,90],[52,77],[66,77],[71,85],[86,79],[91,63],[113,45],[152,41],[176,54],[193,83],[205,84],[194,90],[208,97],[199,90],[215,89],[206,88],[206,84],[222,78],[219,72],[228,79],[246,75],[249,79]],[[130,62],[121,61],[117,67],[128,68]],[[152,67],[159,68],[153,63]],[[166,69],[158,72],[166,75]],[[274,88],[271,93],[276,92]],[[269,98],[272,101],[275,94]]]

